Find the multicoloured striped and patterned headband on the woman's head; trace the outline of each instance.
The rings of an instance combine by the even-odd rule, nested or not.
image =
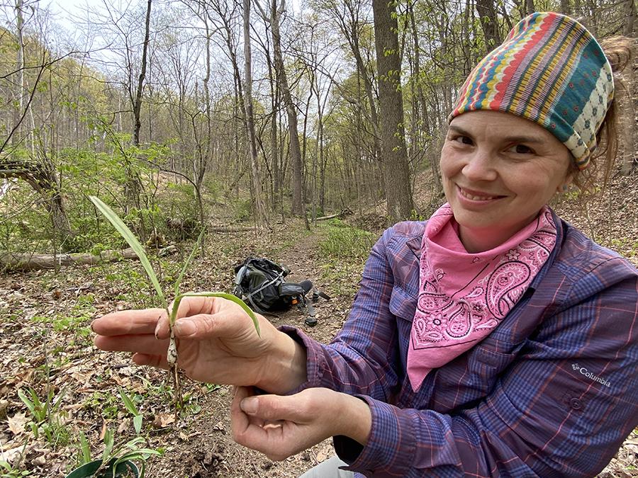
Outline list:
[[[614,96],[611,65],[588,30],[559,13],[532,13],[479,62],[449,120],[474,110],[512,113],[538,123],[584,169]]]

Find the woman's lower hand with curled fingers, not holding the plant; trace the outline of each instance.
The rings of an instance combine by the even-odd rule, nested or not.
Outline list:
[[[271,460],[285,460],[335,435],[367,443],[372,417],[366,402],[327,388],[251,396],[237,387],[230,406],[233,439]]]

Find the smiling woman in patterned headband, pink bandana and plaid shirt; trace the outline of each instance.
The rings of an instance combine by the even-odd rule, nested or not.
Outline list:
[[[262,317],[259,338],[224,300],[182,302],[179,365],[239,386],[235,440],[281,460],[332,436],[347,470],[379,477],[602,470],[638,425],[638,271],[547,203],[608,171],[612,154],[592,153],[613,91],[588,31],[535,13],[459,92],[441,153],[448,203],[384,232],[330,345]],[[166,367],[161,310],[93,329],[99,348]]]

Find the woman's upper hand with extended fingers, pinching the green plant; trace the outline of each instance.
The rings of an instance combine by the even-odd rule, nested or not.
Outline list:
[[[184,297],[175,322],[177,365],[202,382],[254,385],[285,393],[306,381],[306,351],[257,315],[261,337],[242,308],[220,297]],[[126,310],[91,324],[95,345],[133,352],[138,365],[168,368],[167,312]]]

